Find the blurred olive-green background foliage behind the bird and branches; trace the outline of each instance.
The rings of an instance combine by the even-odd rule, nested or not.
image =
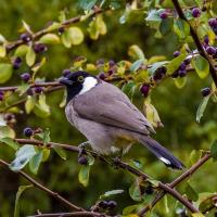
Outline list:
[[[59,12],[65,10],[67,17],[79,15],[77,1],[74,0],[1,0],[0,1],[0,31],[9,40],[18,38],[18,29],[22,20],[26,21],[34,31],[41,29],[48,22],[58,20]],[[173,58],[173,52],[179,49],[177,37],[171,33],[163,38],[154,38],[154,30],[145,25],[144,15],[135,15],[126,24],[119,24],[119,17],[124,13],[124,8],[108,12],[104,15],[107,26],[107,34],[100,36],[98,40],[89,38],[87,28],[88,22],[76,24],[81,27],[86,37],[80,46],[71,49],[62,44],[51,46],[47,52],[47,63],[40,69],[39,75],[47,80],[53,80],[62,76],[62,71],[71,66],[72,61],[79,55],[88,59],[88,62],[95,63],[99,59],[104,60],[128,60],[128,48],[136,43],[149,59],[153,55],[165,55]],[[14,73],[13,79],[7,85],[17,85],[20,79],[18,71]],[[152,103],[157,108],[164,128],[157,129],[154,138],[175,153],[187,166],[190,165],[190,154],[192,150],[209,149],[212,140],[217,131],[216,105],[210,101],[206,107],[201,124],[195,122],[196,108],[202,100],[200,89],[210,85],[210,79],[199,79],[195,73],[188,75],[188,84],[182,89],[177,89],[171,78],[166,79],[152,93]],[[22,131],[26,126],[50,128],[51,140],[71,144],[79,144],[86,139],[74,129],[66,120],[64,110],[60,108],[63,91],[56,91],[48,95],[51,104],[51,116],[39,118],[33,115],[17,114],[15,131],[17,138],[23,137]],[[141,110],[143,97],[136,92],[133,103]],[[114,170],[101,162],[95,162],[90,174],[90,183],[84,188],[77,179],[80,165],[77,163],[77,155],[67,153],[67,161],[63,161],[52,152],[48,162],[41,165],[36,179],[41,180],[46,186],[58,191],[69,201],[84,207],[90,207],[100,194],[112,189],[124,189],[125,193],[117,195],[114,200],[118,203],[119,212],[136,204],[128,194],[128,189],[133,177],[122,170]],[[11,162],[14,153],[10,148],[0,146],[0,158]],[[167,169],[162,163],[150,154],[141,145],[135,145],[129,154],[125,156],[127,161],[138,159],[142,163],[145,173],[165,182],[169,182],[179,175],[178,171]],[[28,169],[26,169],[28,170]],[[191,179],[192,187],[200,192],[215,192],[216,184],[216,163],[209,161]],[[0,216],[11,217],[15,201],[15,193],[18,186],[26,183],[16,174],[1,168],[0,171]],[[178,189],[184,192],[184,183]],[[176,203],[169,197],[169,209],[175,210]],[[174,212],[165,213],[163,202],[154,208],[159,216],[175,216]],[[62,212],[64,207],[55,200],[49,197],[37,189],[27,190],[21,200],[21,216],[34,214],[37,209],[41,212]]]

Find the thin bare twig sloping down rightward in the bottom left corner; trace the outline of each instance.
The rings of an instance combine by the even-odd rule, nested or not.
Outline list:
[[[9,168],[9,164],[7,162],[4,162],[3,159],[0,159],[0,165],[5,166]],[[72,204],[69,201],[67,201],[66,199],[64,199],[63,196],[61,196],[58,192],[54,192],[50,189],[48,189],[47,187],[44,187],[43,184],[39,183],[38,181],[36,181],[35,179],[33,179],[30,176],[28,176],[27,174],[25,174],[24,171],[17,171],[17,174],[22,177],[24,177],[26,180],[28,180],[30,183],[33,183],[36,188],[44,191],[46,193],[48,193],[50,196],[59,200],[62,204],[64,204],[65,206],[69,207],[73,210],[78,210],[78,212],[85,212],[84,208],[76,206],[74,204]]]

